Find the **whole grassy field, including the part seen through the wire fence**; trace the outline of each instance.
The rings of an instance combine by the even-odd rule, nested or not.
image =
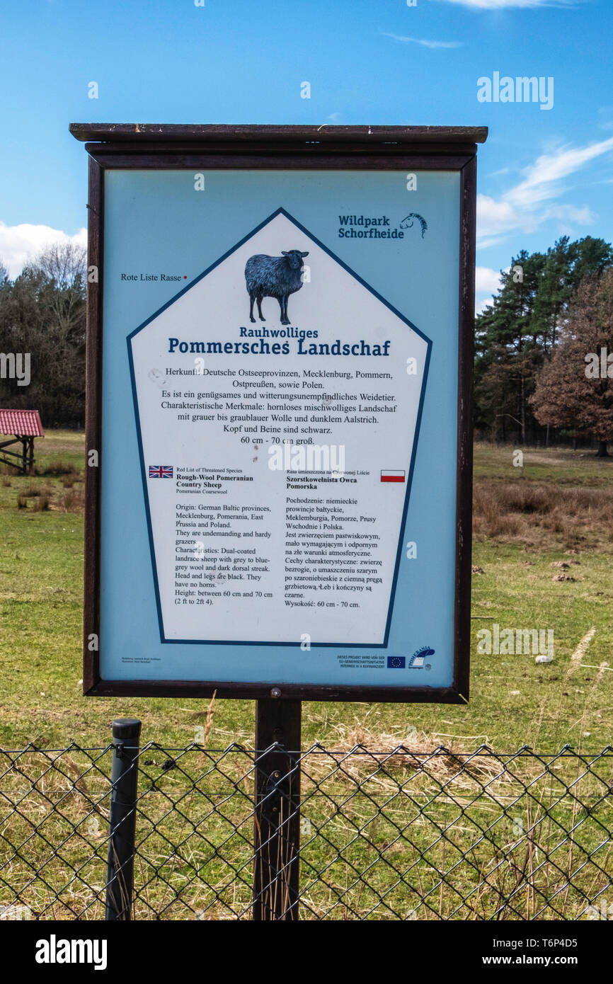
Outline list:
[[[253,705],[218,701],[207,717],[203,701],[82,696],[83,459],[83,435],[56,431],[34,476],[0,468],[0,748],[104,746],[114,717],[139,716],[164,751],[140,764],[136,916],[249,917],[249,755],[192,748],[170,770],[166,756],[205,722],[208,748],[252,748]],[[303,706],[303,747],[341,753],[302,767],[303,918],[576,919],[610,885],[611,758],[598,753],[613,724],[613,461],[513,462],[512,448],[476,448],[468,706]],[[554,661],[478,652],[494,623],[553,630]],[[415,757],[344,760],[358,743]],[[575,754],[462,758],[483,744]],[[432,756],[442,745],[454,754]],[[109,759],[98,770],[71,748],[54,769],[38,752],[6,768],[2,755],[0,903],[101,918]]]

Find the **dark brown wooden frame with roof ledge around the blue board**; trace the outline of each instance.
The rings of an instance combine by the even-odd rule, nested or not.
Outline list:
[[[472,523],[472,381],[476,145],[486,127],[183,126],[73,123],[90,155],[86,447],[101,463],[104,180],[107,168],[460,171],[460,306],[454,680],[451,687],[369,687],[102,680],[99,672],[100,468],[86,466],[84,694],[291,701],[463,704],[468,698]],[[91,646],[94,646],[91,648]]]

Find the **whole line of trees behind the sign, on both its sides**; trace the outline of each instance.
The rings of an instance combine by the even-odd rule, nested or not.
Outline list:
[[[31,383],[0,378],[0,405],[45,427],[85,420],[86,252],[49,246],[10,279],[0,264],[0,352],[31,353]],[[475,431],[521,445],[613,441],[613,248],[563,236],[501,273],[475,322]]]

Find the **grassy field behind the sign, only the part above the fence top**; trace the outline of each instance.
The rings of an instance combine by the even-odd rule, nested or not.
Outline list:
[[[37,443],[37,474],[0,472],[0,745],[103,745],[122,714],[142,718],[146,740],[185,744],[203,702],[81,695],[83,449],[83,435],[49,432]],[[465,750],[610,742],[613,672],[599,667],[613,664],[613,461],[540,450],[516,467],[513,449],[478,446],[474,474],[473,564],[483,573],[473,576],[468,706],[305,704],[305,743],[388,747],[413,729],[426,745]],[[553,663],[477,653],[476,633],[493,623],[552,629]],[[250,746],[253,730],[251,702],[216,703],[213,747]]]

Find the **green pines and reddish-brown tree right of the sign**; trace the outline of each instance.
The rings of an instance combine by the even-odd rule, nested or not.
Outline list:
[[[521,250],[475,321],[475,429],[519,444],[613,440],[611,375],[585,357],[613,353],[613,249],[562,236],[546,253]],[[607,356],[608,357],[608,356]]]

